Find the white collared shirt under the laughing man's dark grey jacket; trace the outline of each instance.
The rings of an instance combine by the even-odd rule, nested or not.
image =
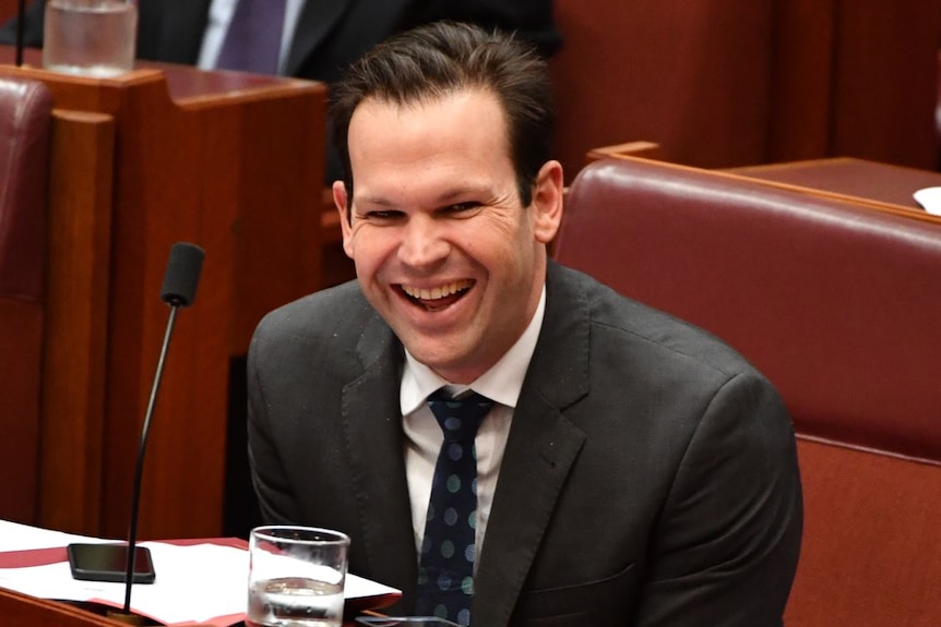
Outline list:
[[[402,406],[402,424],[405,431],[405,473],[408,480],[408,496],[412,501],[412,526],[415,532],[415,548],[421,550],[421,538],[425,534],[425,517],[428,514],[428,501],[431,497],[431,479],[434,474],[434,463],[438,451],[444,442],[444,434],[428,407],[428,396],[436,389],[446,386],[452,394],[473,389],[493,400],[493,407],[480,424],[474,445],[477,450],[477,555],[484,544],[487,521],[490,518],[490,507],[497,491],[497,478],[503,461],[503,449],[510,433],[510,421],[523,378],[529,367],[536,340],[543,327],[543,316],[546,312],[546,287],[536,313],[516,343],[507,351],[493,367],[485,372],[470,385],[452,385],[434,373],[427,365],[419,363],[405,351],[405,367],[402,372],[400,387],[400,403]]]

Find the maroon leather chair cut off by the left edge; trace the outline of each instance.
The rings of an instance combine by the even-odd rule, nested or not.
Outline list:
[[[36,516],[52,98],[0,80],[0,518]]]

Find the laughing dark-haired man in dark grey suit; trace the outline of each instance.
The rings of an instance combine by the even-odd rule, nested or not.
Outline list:
[[[367,55],[335,98],[333,193],[358,280],[269,314],[253,339],[263,518],[348,533],[350,571],[403,590],[393,612],[781,625],[802,521],[789,418],[715,338],[548,260],[562,169],[545,62],[433,24]],[[474,441],[469,614],[425,577],[451,453],[436,462],[441,387],[455,406],[468,388],[492,400]]]

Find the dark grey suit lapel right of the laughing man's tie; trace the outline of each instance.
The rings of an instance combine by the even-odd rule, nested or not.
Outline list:
[[[509,625],[584,433],[564,410],[587,394],[588,314],[577,282],[550,265],[546,317],[513,422],[475,577],[474,623]]]

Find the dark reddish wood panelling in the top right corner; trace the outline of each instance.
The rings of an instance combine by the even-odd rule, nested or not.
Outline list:
[[[770,161],[936,166],[941,0],[778,0]]]

